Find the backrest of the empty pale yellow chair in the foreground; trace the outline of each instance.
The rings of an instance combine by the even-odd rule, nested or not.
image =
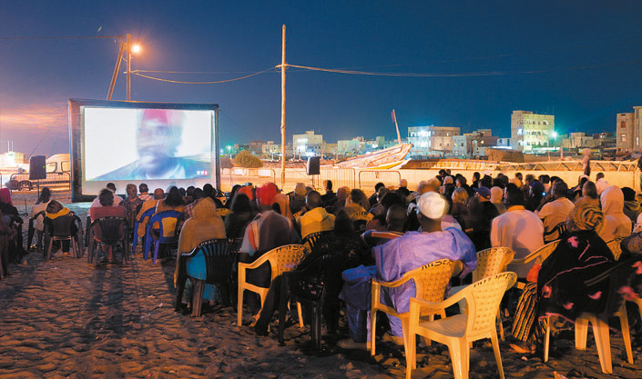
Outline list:
[[[466,286],[462,292],[466,300],[466,335],[470,340],[494,330],[499,303],[504,292],[517,281],[517,274],[494,274]]]

